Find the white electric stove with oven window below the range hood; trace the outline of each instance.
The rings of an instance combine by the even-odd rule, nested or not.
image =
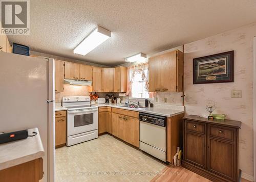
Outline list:
[[[67,108],[67,146],[98,138],[98,107],[90,105],[90,96],[62,97]]]

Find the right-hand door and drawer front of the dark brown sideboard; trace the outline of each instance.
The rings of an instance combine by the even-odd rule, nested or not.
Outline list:
[[[235,181],[238,177],[236,129],[212,124],[207,129],[207,169]]]

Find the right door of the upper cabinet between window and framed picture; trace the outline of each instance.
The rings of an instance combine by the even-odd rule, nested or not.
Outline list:
[[[177,51],[161,55],[161,91],[176,92],[177,86]]]

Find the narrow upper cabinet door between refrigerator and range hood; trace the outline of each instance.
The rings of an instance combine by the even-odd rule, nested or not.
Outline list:
[[[55,60],[55,92],[63,92],[64,62]]]

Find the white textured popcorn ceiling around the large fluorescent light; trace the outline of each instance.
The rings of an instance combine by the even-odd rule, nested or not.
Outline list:
[[[114,66],[256,21],[250,0],[30,1],[30,35],[10,42],[47,54]],[[73,48],[97,25],[111,38],[86,56]]]

